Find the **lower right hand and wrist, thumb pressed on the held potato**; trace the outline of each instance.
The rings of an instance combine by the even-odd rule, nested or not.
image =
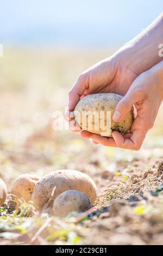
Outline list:
[[[154,125],[163,99],[162,71],[163,62],[142,73],[131,84],[123,99],[118,102],[112,117],[115,121],[122,121],[131,107],[133,105],[136,107],[137,115],[130,132],[122,136],[114,131],[112,132],[113,138],[107,138],[83,131],[86,132],[87,137],[92,138],[95,143],[101,143],[105,146],[139,150],[147,131]]]

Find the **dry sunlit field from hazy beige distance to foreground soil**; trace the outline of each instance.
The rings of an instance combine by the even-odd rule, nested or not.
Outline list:
[[[163,106],[136,152],[93,145],[79,134],[52,129],[52,114],[64,113],[68,90],[80,72],[112,51],[4,49],[0,178],[9,193],[20,174],[76,169],[96,182],[98,198],[91,212],[61,220],[48,212],[39,215],[32,202],[9,194],[0,208],[0,245],[163,244]]]

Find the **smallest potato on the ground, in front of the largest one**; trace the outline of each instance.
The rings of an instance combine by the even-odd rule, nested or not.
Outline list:
[[[53,203],[53,212],[55,216],[65,217],[72,211],[83,212],[89,210],[92,204],[86,194],[77,190],[67,190],[57,198]]]

